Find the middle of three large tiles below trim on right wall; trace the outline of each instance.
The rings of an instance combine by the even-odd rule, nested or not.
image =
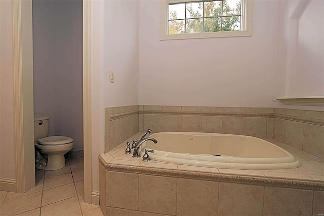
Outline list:
[[[285,143],[297,149],[303,148],[303,123],[285,121]]]

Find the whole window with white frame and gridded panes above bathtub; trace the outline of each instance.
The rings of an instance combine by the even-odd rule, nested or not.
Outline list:
[[[160,8],[160,40],[252,35],[252,0],[167,0]]]

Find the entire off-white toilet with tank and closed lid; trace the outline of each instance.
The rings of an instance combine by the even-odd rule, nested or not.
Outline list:
[[[35,147],[45,154],[47,162],[43,156],[39,156],[37,163],[37,157],[35,167],[37,169],[44,170],[57,170],[65,167],[64,154],[70,151],[73,147],[73,139],[67,136],[48,136],[49,133],[49,119],[48,115],[34,115],[34,135],[35,135]]]

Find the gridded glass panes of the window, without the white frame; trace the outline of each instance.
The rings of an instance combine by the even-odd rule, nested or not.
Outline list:
[[[241,30],[241,0],[168,3],[168,34]]]

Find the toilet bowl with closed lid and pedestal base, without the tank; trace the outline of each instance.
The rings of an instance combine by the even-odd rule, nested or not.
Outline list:
[[[37,169],[57,170],[65,167],[64,154],[73,148],[73,139],[67,136],[48,136],[38,139],[35,147],[42,154],[48,155],[46,166],[37,166]]]

